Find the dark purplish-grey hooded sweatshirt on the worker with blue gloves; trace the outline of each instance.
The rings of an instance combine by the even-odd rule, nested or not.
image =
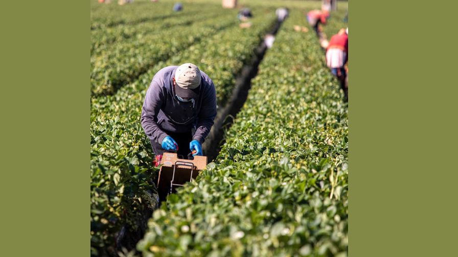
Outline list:
[[[142,127],[145,134],[159,145],[167,132],[187,133],[196,129],[193,140],[201,144],[208,136],[216,117],[216,90],[213,81],[203,71],[199,97],[190,102],[175,96],[172,78],[178,66],[168,66],[153,77],[142,108]]]

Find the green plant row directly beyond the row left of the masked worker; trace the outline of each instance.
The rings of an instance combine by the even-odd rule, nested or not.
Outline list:
[[[105,45],[91,53],[91,92],[96,95],[112,94],[127,83],[196,42],[236,24],[232,12],[222,12],[219,17],[183,25],[186,34],[176,30],[150,33],[141,38],[131,38]]]

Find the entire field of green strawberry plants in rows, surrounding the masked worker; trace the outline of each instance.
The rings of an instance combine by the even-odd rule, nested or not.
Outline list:
[[[117,255],[142,238],[144,256],[345,255],[347,106],[316,35],[293,30],[316,3],[250,2],[252,25],[241,29],[237,10],[196,2],[182,15],[173,1],[91,3],[91,255]],[[214,81],[221,110],[281,3],[292,4],[291,16],[219,156],[153,214],[158,170],[140,123],[153,75],[196,64]],[[174,36],[182,29],[188,37]]]

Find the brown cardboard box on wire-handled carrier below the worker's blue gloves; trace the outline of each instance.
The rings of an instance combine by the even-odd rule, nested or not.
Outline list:
[[[195,156],[194,160],[179,159],[176,153],[165,152],[157,178],[159,200],[163,201],[169,193],[175,193],[176,188],[197,177],[199,172],[207,167],[206,156]],[[173,171],[175,170],[175,175]],[[172,182],[173,178],[173,182]]]

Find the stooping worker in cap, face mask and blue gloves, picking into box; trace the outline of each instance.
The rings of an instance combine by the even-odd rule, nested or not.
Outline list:
[[[156,166],[164,151],[186,157],[195,150],[193,156],[201,156],[215,117],[216,90],[207,74],[192,63],[159,70],[146,92],[141,117]]]

